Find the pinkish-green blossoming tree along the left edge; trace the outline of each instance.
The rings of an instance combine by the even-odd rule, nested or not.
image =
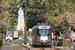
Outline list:
[[[5,3],[6,2],[6,3]],[[8,18],[8,8],[9,1],[1,0],[0,1],[0,33],[5,33],[7,28],[9,28],[9,18]]]

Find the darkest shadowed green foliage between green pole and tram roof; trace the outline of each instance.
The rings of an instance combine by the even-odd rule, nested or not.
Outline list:
[[[27,29],[32,28],[38,22],[38,19],[34,13],[27,13]]]

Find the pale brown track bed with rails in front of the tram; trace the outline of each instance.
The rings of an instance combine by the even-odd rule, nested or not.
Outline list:
[[[20,45],[20,44],[16,44],[13,45],[13,49],[14,50],[56,50],[56,49],[51,49],[50,47],[46,47],[46,46],[35,46],[33,47],[31,46],[27,46],[27,45]]]

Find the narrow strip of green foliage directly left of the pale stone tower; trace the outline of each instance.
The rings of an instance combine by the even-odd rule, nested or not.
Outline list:
[[[15,29],[15,25],[17,24],[17,18],[18,18],[18,1],[12,0],[10,1],[10,7],[9,7],[9,17],[10,17],[10,28],[13,30]]]

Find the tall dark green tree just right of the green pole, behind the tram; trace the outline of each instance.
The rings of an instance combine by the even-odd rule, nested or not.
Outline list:
[[[38,23],[38,17],[37,15],[42,15],[39,6],[41,3],[33,1],[33,0],[27,0],[27,29],[32,28]],[[23,10],[25,12],[25,3],[22,4]],[[38,14],[37,14],[38,13]]]

